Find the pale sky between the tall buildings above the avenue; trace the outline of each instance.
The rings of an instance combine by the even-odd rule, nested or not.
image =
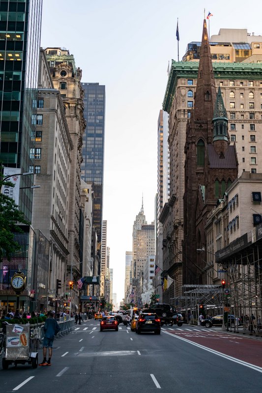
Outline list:
[[[142,206],[154,220],[157,120],[169,62],[201,41],[210,11],[210,36],[220,28],[262,34],[260,1],[43,0],[41,46],[61,47],[83,70],[82,82],[106,86],[103,220],[107,220],[113,292],[124,296],[125,252]],[[208,8],[209,7],[209,8]],[[254,12],[254,11],[257,12]]]

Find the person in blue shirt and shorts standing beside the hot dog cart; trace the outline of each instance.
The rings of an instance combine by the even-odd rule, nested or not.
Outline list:
[[[51,365],[51,358],[52,358],[52,351],[53,351],[53,341],[55,336],[61,330],[60,326],[58,325],[56,319],[54,319],[54,313],[52,311],[48,311],[47,313],[48,318],[45,321],[44,325],[44,340],[43,340],[43,362],[39,365]],[[46,360],[48,348],[48,360]]]

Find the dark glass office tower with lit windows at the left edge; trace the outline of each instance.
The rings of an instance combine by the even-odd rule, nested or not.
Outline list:
[[[42,0],[0,0],[0,161],[28,172],[35,157],[35,103]],[[21,176],[20,208],[30,221],[33,176]]]

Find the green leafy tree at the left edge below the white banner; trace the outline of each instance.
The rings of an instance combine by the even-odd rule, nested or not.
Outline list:
[[[5,181],[0,172],[0,190],[4,185],[14,186],[13,182]],[[14,232],[23,232],[19,223],[29,225],[15,201],[0,193],[0,261],[3,256],[10,260],[12,253],[20,249],[20,245],[14,240]]]

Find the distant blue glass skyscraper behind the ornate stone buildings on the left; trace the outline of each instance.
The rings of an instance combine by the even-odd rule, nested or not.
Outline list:
[[[86,183],[92,183],[93,226],[100,243],[104,179],[105,86],[99,83],[82,83],[81,85],[85,90],[84,117],[87,121],[87,128],[83,135],[81,177]]]

